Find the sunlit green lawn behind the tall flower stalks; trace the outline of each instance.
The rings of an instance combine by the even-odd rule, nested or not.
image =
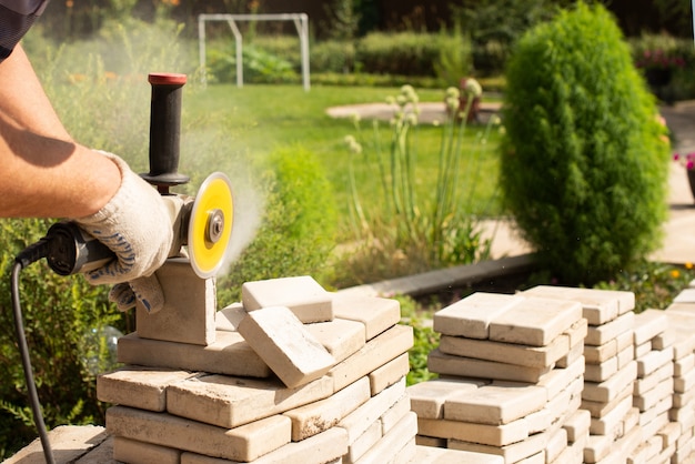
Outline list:
[[[246,157],[263,159],[274,148],[281,145],[300,144],[314,152],[323,162],[329,180],[333,184],[339,212],[348,215],[349,196],[349,164],[351,153],[344,142],[344,137],[353,134],[361,137],[364,152],[354,163],[357,189],[362,192],[365,203],[371,201],[379,204],[380,176],[376,173],[373,160],[375,155],[372,122],[361,121],[361,135],[357,134],[354,123],[350,119],[333,119],[325,110],[334,105],[383,102],[389,95],[396,95],[399,89],[384,88],[344,88],[316,87],[305,92],[300,85],[245,85],[239,89],[234,85],[209,85],[205,89],[194,89],[184,95],[184,118],[189,121],[185,130],[195,131],[205,128],[209,137],[230,138],[235,150],[245,153],[238,160]],[[443,91],[417,90],[421,101],[443,100]],[[480,149],[474,142],[476,132],[483,128],[473,128],[467,141],[472,152]],[[439,152],[442,137],[441,127],[421,124],[413,133],[413,150],[417,157],[416,184],[417,194],[432,195],[437,175]],[[219,132],[219,134],[218,134]],[[389,122],[380,123],[382,150],[387,151],[391,138]],[[182,134],[185,140],[187,134]],[[490,138],[486,147],[480,150],[480,159],[467,154],[463,161],[465,171],[477,179],[472,210],[475,213],[497,213],[498,206],[493,201],[496,184],[496,160],[494,147],[496,134]],[[190,147],[190,144],[189,144]],[[189,157],[182,150],[182,163]],[[208,153],[209,163],[199,168],[215,170],[215,164],[226,164],[215,153]],[[243,161],[242,161],[243,162]],[[229,167],[226,169],[234,169]],[[376,200],[376,201],[374,201]],[[369,204],[369,203],[367,203]],[[365,204],[365,208],[369,208]],[[466,205],[469,208],[471,205]]]

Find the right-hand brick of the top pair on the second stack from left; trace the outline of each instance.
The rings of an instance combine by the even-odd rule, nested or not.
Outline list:
[[[490,340],[545,346],[582,319],[574,301],[525,297],[490,323]]]

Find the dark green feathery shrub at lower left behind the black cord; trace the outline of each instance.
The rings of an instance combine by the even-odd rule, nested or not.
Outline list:
[[[14,333],[10,273],[14,256],[43,236],[49,225],[46,220],[0,221],[0,461],[37,436]],[[24,331],[48,428],[103,425],[105,410],[97,401],[95,374],[113,364],[108,351],[84,341],[93,341],[92,334],[109,325],[125,331],[121,313],[109,306],[108,290],[82,276],[60,276],[43,261],[20,273]],[[94,357],[97,352],[102,355]]]

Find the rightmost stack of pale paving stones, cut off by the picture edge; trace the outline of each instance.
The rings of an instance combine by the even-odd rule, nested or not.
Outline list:
[[[665,339],[673,345],[674,397],[669,412],[679,426],[672,462],[693,462],[695,453],[695,289],[684,290],[664,314]],[[687,458],[691,461],[686,461]]]

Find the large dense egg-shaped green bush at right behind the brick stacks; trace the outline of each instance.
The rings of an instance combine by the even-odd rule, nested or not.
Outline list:
[[[541,264],[591,284],[658,246],[669,147],[614,19],[578,3],[506,70],[501,189]]]

